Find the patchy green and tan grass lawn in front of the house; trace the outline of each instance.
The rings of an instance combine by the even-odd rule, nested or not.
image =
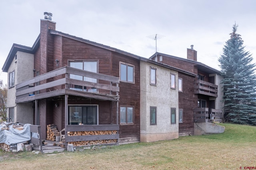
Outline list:
[[[225,132],[103,149],[34,154],[0,151],[0,170],[233,170],[256,167],[256,127],[220,123]]]

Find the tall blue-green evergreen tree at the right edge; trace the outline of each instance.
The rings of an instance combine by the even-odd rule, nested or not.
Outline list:
[[[256,125],[256,68],[252,55],[244,49],[241,35],[236,33],[237,27],[233,25],[218,59],[224,77],[224,117],[234,123]]]

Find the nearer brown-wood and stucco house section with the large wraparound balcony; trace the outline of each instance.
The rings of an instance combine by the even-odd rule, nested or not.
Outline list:
[[[40,125],[43,139],[54,124],[66,143],[82,145],[178,138],[181,84],[172,75],[197,76],[56,31],[50,13],[34,45],[14,44],[2,70],[11,121]]]

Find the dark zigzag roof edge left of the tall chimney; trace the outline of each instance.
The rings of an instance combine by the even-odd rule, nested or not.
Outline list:
[[[40,35],[38,35],[32,47],[27,47],[24,45],[19,45],[14,43],[2,67],[3,72],[8,71],[8,68],[10,67],[10,64],[14,56],[16,55],[17,51],[33,54],[35,50],[39,47],[39,40],[40,40]]]

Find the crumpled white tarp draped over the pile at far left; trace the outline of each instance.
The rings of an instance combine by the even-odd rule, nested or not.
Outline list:
[[[0,130],[0,143],[7,145],[14,145],[29,141],[30,137],[30,124],[25,124],[24,129],[14,129],[12,125],[9,125],[9,130]],[[0,125],[0,129],[2,129]]]

